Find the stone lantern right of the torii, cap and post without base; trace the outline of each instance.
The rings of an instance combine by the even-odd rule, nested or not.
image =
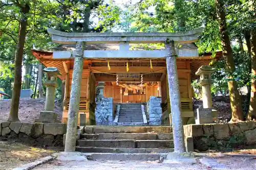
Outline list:
[[[215,68],[203,65],[196,72],[196,75],[200,76],[199,83],[202,86],[203,108],[205,109],[212,108],[210,85],[212,83],[211,73],[214,71]]]

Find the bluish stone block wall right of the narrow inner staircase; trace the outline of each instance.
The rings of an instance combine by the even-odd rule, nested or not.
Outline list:
[[[161,125],[162,122],[162,108],[161,97],[150,96],[147,102],[147,114],[149,117],[148,125]]]

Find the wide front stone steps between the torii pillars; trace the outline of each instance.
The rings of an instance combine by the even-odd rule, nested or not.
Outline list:
[[[159,160],[173,148],[171,127],[87,126],[76,151],[94,160]]]

